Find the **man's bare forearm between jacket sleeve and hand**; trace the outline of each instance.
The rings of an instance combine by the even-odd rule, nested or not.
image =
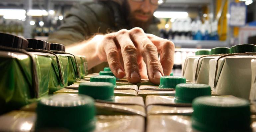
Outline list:
[[[97,43],[101,41],[102,38],[103,38],[103,35],[96,35],[92,39],[85,40],[78,44],[67,46],[66,52],[72,53],[75,55],[86,56],[88,69],[91,69],[94,66],[102,63],[102,61],[100,60],[96,52],[98,48]]]

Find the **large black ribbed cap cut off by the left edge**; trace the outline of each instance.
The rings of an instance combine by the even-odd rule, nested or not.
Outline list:
[[[0,45],[26,50],[28,41],[22,37],[0,32]]]

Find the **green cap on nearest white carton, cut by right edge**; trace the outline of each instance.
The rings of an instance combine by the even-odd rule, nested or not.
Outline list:
[[[255,53],[256,52],[256,45],[252,44],[241,44],[235,45],[230,48],[230,53]]]

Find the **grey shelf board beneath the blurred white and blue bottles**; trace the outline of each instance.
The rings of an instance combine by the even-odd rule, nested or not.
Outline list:
[[[175,47],[179,48],[214,48],[214,47],[229,47],[227,41],[213,40],[171,40]]]

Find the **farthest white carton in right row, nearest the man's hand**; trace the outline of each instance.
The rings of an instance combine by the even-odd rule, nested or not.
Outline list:
[[[201,56],[191,56],[187,57],[184,65],[182,67],[182,76],[185,77],[189,81],[193,81],[193,65],[194,65],[194,60],[200,58]]]

